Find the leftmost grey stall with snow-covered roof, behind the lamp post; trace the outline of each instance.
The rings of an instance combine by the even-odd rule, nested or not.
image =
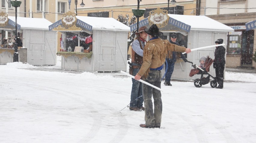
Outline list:
[[[19,61],[31,65],[56,65],[57,36],[56,32],[49,31],[50,24],[47,19],[17,17]],[[0,29],[0,63],[6,64],[13,62],[15,16],[0,13]]]

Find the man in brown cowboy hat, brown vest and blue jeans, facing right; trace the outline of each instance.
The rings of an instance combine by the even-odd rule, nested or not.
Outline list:
[[[132,44],[132,63],[129,70],[131,70],[130,74],[133,76],[135,76],[139,72],[143,62],[143,49],[146,43],[146,39],[148,37],[148,33],[144,31],[144,29],[146,28],[146,26],[142,26],[139,28],[139,32],[135,33],[137,37],[134,39]],[[133,85],[131,91],[130,110],[145,110],[145,108],[142,106],[142,103],[144,101],[142,97],[142,83],[135,79],[132,79],[132,82]]]

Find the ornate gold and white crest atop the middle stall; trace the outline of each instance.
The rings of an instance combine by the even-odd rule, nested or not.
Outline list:
[[[71,12],[70,10],[67,13],[63,13],[63,17],[61,19],[62,24],[65,28],[72,27],[76,24],[76,17],[75,13]]]

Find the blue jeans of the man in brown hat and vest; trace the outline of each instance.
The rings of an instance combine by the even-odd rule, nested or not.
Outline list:
[[[139,68],[133,69],[133,76],[136,76],[139,70],[140,70]],[[132,85],[132,92],[131,92],[130,107],[141,107],[144,101],[142,96],[142,83],[135,79],[132,79],[132,82],[133,82],[133,85]]]

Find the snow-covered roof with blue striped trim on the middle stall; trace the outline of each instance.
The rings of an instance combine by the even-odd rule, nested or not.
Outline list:
[[[130,31],[130,27],[113,18],[76,16],[76,26],[82,29],[92,30],[122,30]],[[49,30],[62,25],[62,20],[56,21],[49,26]]]

